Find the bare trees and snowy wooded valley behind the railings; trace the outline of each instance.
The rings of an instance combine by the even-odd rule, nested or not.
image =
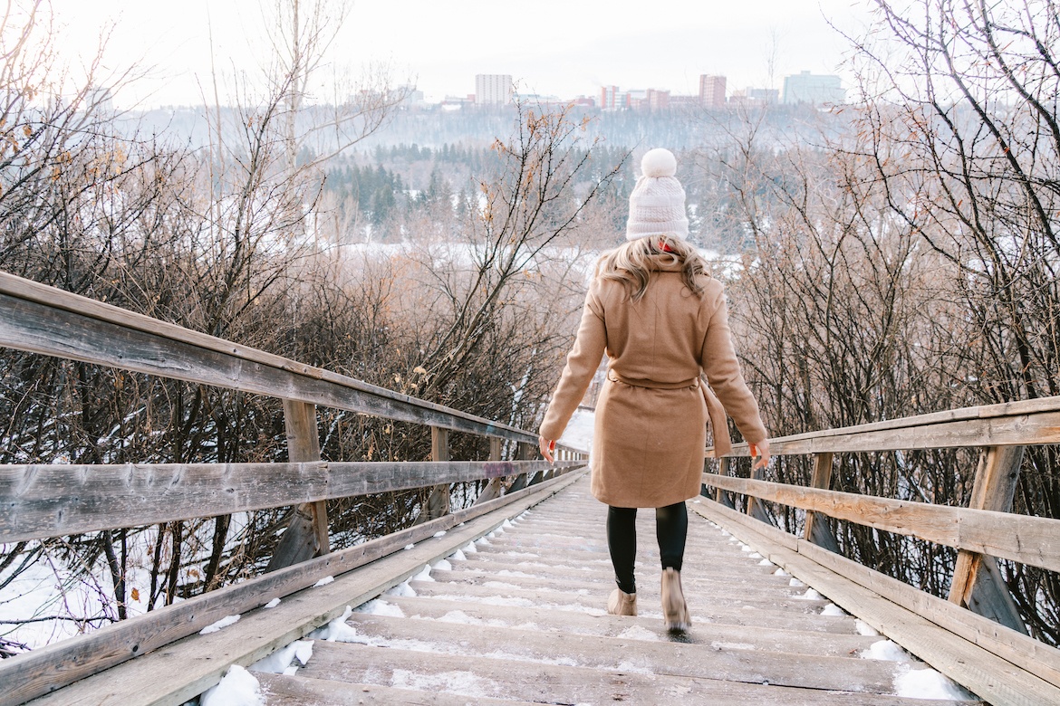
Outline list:
[[[232,79],[191,141],[107,109],[93,87],[135,73],[75,80],[47,3],[8,4],[0,270],[533,430],[593,265],[622,241],[636,158],[669,146],[771,435],[1058,395],[1056,7],[874,5],[849,38],[846,105],[653,119],[520,104],[485,128],[403,112],[381,74],[322,110],[306,85],[328,22],[281,12],[292,41],[267,88]],[[429,457],[412,426],[323,411],[320,435],[326,459]],[[455,435],[454,458],[483,443]],[[285,458],[279,401],[0,351],[0,464]],[[808,463],[766,477],[805,484]],[[964,505],[976,463],[849,454],[833,488]],[[1013,510],[1060,518],[1058,468],[1055,447],[1029,449]],[[424,500],[330,502],[332,546],[408,526]],[[289,512],[0,545],[0,654],[260,573]],[[946,595],[952,549],[832,528],[846,556]],[[1060,644],[1060,577],[1002,572],[1027,631]],[[26,609],[30,581],[51,597]]]

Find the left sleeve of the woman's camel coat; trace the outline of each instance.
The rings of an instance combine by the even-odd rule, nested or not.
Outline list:
[[[567,364],[560,376],[560,384],[552,394],[552,401],[545,412],[545,421],[541,424],[541,435],[546,439],[558,439],[567,428],[567,422],[585,397],[593,376],[600,366],[604,349],[607,346],[607,332],[603,321],[603,307],[600,304],[599,280],[594,279],[585,296],[585,307],[582,309],[582,321],[578,326],[578,337],[575,347],[567,355]]]

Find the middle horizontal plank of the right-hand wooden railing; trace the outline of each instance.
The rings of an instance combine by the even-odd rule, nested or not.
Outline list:
[[[898,535],[1060,571],[1060,520],[704,473],[704,483]]]

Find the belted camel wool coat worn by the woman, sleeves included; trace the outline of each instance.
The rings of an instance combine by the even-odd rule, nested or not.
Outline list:
[[[701,370],[744,439],[766,438],[732,348],[721,283],[702,275],[696,296],[681,263],[653,258],[639,302],[621,282],[593,279],[541,426],[546,439],[560,438],[606,352],[589,468],[593,494],[614,507],[662,507],[700,493],[707,421]]]

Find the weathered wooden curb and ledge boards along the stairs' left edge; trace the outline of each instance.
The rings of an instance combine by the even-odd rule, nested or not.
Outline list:
[[[40,706],[182,704],[216,684],[229,665],[247,666],[299,639],[341,615],[347,604],[356,605],[379,595],[420,572],[425,563],[448,556],[581,475],[567,474],[525,493],[387,536],[368,551],[366,546],[372,543],[5,659],[0,663],[0,683],[6,687],[0,692],[0,706],[14,706],[34,696],[40,696],[33,702]],[[461,527],[460,523],[466,525]],[[435,536],[443,530],[447,533]],[[412,543],[412,549],[402,550]],[[313,587],[326,576],[335,580]],[[279,607],[254,610],[275,597],[284,597]],[[209,635],[195,634],[220,617],[237,613],[245,615],[234,626]],[[140,656],[130,660],[135,655]],[[123,665],[125,662],[128,664]],[[107,668],[117,671],[100,673]],[[60,688],[67,685],[71,686]]]

